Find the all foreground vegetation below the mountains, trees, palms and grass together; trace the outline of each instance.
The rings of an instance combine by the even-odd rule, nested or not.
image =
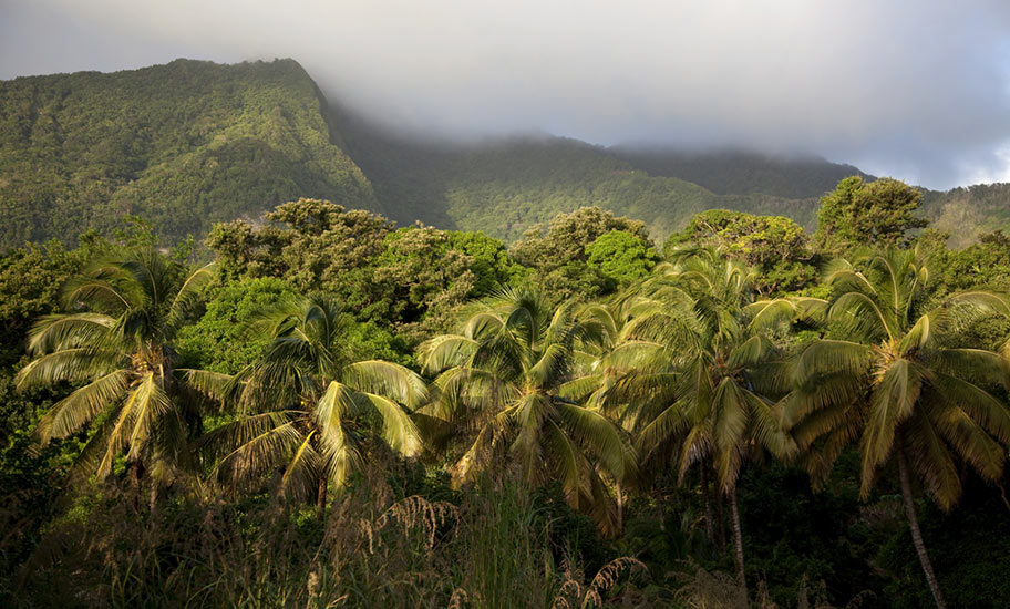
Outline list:
[[[717,209],[661,260],[600,208],[506,248],[300,199],[213,278],[136,223],[12,250],[0,595],[1002,606],[1010,244],[914,239]]]

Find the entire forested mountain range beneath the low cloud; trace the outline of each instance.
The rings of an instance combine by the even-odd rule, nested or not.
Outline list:
[[[0,82],[0,106],[3,246],[107,233],[125,214],[167,239],[199,238],[299,197],[504,239],[590,205],[646,220],[656,239],[711,208],[813,228],[821,195],[866,176],[815,157],[543,133],[419,138],[328,99],[292,60],[20,78]],[[1002,186],[930,192],[924,213],[963,244],[1010,223],[1008,200]]]

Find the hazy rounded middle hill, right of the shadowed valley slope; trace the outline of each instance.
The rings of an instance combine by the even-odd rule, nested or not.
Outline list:
[[[513,239],[533,223],[597,205],[646,220],[657,239],[713,207],[813,218],[812,203],[765,195],[720,196],[677,177],[652,176],[602,148],[569,140],[515,141],[461,155],[444,178],[447,214],[463,228],[495,227]]]

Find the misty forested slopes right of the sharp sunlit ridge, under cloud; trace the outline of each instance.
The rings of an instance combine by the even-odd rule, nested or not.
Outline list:
[[[334,110],[333,121],[390,217],[509,240],[585,205],[646,220],[659,240],[711,208],[786,216],[813,230],[820,197],[839,180],[875,179],[820,158],[604,148],[559,137],[431,143],[390,135],[347,111]],[[921,213],[951,234],[951,245],[965,246],[1010,229],[1010,185],[924,189]]]

